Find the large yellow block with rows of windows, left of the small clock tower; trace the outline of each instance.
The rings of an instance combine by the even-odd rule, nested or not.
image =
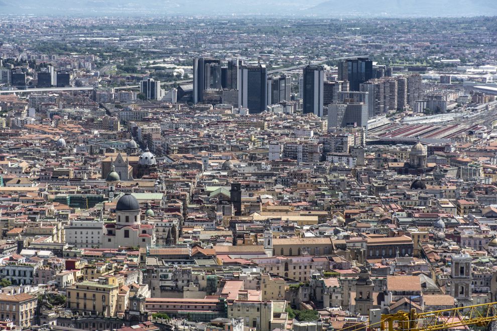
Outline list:
[[[67,308],[78,312],[115,316],[120,285],[114,276],[76,283],[67,288]]]

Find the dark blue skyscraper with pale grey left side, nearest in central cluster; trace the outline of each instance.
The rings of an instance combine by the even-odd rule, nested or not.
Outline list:
[[[241,65],[238,68],[238,106],[250,113],[266,110],[267,73],[265,65]]]

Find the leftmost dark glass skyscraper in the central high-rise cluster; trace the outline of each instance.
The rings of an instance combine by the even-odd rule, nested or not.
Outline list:
[[[193,103],[203,100],[207,89],[221,89],[221,61],[216,59],[193,59]]]

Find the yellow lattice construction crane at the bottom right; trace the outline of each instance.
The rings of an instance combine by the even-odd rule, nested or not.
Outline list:
[[[497,302],[422,313],[417,313],[413,308],[410,312],[382,314],[380,321],[366,321],[337,331],[368,331],[371,329],[436,331],[464,325],[486,326],[492,321],[497,321]]]

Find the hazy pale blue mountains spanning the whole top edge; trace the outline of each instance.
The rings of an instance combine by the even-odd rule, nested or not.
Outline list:
[[[497,16],[496,0],[0,0],[31,15]]]

